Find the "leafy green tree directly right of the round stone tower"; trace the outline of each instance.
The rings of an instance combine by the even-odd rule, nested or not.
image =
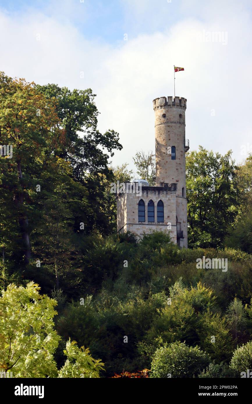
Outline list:
[[[188,242],[191,247],[223,245],[235,221],[240,191],[231,151],[222,156],[199,146],[186,155]]]

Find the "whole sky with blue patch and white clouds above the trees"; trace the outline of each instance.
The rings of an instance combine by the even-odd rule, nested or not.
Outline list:
[[[187,99],[186,139],[239,163],[252,152],[251,0],[0,0],[0,70],[91,88],[112,165],[155,151],[152,100]]]

